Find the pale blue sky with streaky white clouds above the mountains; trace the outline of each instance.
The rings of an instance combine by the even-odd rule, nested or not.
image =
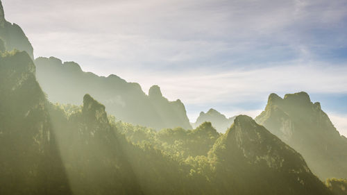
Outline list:
[[[2,0],[35,57],[160,85],[191,121],[305,91],[347,136],[346,0]]]

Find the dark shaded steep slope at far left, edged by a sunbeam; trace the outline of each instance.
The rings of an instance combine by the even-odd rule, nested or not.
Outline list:
[[[0,194],[71,194],[26,52],[0,53]]]

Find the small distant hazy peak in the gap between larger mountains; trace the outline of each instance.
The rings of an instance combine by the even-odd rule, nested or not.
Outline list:
[[[226,118],[225,115],[222,115],[220,112],[214,109],[208,110],[208,112],[200,112],[196,122],[192,124],[193,128],[196,128],[203,124],[206,121],[210,121],[212,126],[216,128],[219,132],[224,133],[231,124],[234,122],[235,117]]]

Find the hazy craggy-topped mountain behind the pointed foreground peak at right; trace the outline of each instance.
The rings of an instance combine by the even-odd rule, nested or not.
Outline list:
[[[255,121],[301,153],[322,180],[347,178],[347,140],[307,93],[271,94]]]

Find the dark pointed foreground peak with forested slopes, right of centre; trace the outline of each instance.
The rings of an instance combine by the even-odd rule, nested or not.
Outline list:
[[[219,194],[330,194],[299,153],[251,117],[236,117],[210,156]]]

